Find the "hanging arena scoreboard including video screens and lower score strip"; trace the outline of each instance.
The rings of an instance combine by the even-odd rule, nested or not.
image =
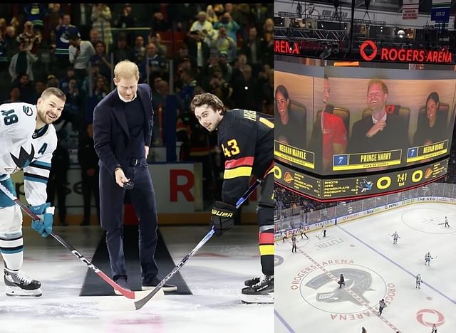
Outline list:
[[[456,109],[456,73],[448,72],[276,61],[276,183],[317,201],[334,201],[442,179]],[[368,131],[379,110],[385,110],[381,130],[391,134],[371,144]]]

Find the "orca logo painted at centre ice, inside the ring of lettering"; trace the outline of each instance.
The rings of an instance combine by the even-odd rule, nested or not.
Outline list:
[[[333,290],[328,292],[317,292],[316,300],[317,302],[353,302],[356,305],[362,305],[361,302],[356,300],[352,295],[346,292],[346,289],[352,290],[356,295],[358,295],[364,302],[369,303],[370,301],[364,297],[364,293],[371,289],[372,285],[372,275],[371,273],[366,272],[365,270],[358,270],[356,268],[339,268],[336,270],[331,270],[330,273],[336,277],[343,274],[345,277],[346,287],[339,288],[334,287]],[[328,283],[333,283],[331,277],[322,273],[313,279],[309,280],[306,283],[306,287],[311,287],[314,290],[325,286]]]

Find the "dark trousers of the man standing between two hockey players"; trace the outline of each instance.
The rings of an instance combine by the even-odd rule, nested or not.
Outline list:
[[[124,170],[135,187],[129,191],[130,199],[139,219],[139,251],[142,284],[150,283],[157,276],[154,255],[157,246],[157,208],[155,191],[145,159],[138,166]],[[125,190],[115,183],[114,176],[100,167],[101,227],[106,231],[106,245],[113,279],[127,278],[123,254],[123,199]]]

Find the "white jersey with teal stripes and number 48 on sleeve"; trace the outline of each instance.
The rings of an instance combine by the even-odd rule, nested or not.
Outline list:
[[[45,125],[38,131],[35,127],[35,105],[0,106],[0,180],[24,169],[26,199],[32,206],[46,202],[52,153],[57,147],[53,125]]]

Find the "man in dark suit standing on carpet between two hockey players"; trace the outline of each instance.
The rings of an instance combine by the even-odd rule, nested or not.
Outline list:
[[[128,288],[122,216],[124,184],[133,181],[129,194],[139,219],[141,285],[142,290],[146,290],[158,285],[160,279],[154,259],[157,245],[155,191],[146,162],[152,137],[152,93],[149,85],[138,85],[139,78],[135,63],[123,60],[115,65],[117,88],[95,107],[93,139],[95,152],[100,157],[100,217],[106,231],[113,280]],[[163,290],[177,290],[177,287],[165,284]]]

